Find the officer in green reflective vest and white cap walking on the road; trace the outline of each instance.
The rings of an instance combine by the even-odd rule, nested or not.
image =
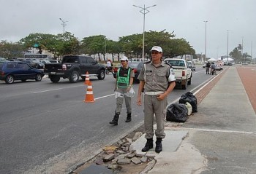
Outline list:
[[[124,56],[121,58],[121,67],[118,68],[116,73],[116,87],[115,87],[115,97],[116,97],[116,110],[113,120],[109,122],[113,125],[118,125],[119,115],[121,113],[121,108],[123,106],[123,100],[125,102],[125,106],[127,108],[127,119],[125,122],[132,121],[132,98],[131,90],[133,84],[133,78],[135,77],[135,73],[132,68],[128,65],[128,58]]]

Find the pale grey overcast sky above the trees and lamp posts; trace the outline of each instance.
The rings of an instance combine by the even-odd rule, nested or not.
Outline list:
[[[176,38],[186,39],[203,54],[207,40],[207,57],[217,58],[227,55],[229,30],[229,52],[243,41],[244,52],[256,57],[255,0],[0,0],[0,40],[63,33],[61,18],[67,21],[65,31],[78,39],[102,34],[118,41],[143,33],[138,7],[154,4],[145,15],[145,31],[174,31]]]

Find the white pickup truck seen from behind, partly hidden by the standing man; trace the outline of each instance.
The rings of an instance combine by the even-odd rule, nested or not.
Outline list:
[[[187,64],[187,60],[177,58],[166,58],[165,62],[173,66],[176,84],[181,84],[182,90],[187,89],[187,84],[191,84],[192,70]]]

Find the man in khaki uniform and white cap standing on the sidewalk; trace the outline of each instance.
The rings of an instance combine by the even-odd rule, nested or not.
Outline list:
[[[142,92],[144,91],[144,128],[146,145],[143,152],[153,148],[154,115],[157,120],[157,136],[155,151],[162,151],[162,139],[165,138],[165,113],[167,95],[176,86],[173,68],[170,64],[162,62],[162,48],[154,46],[151,49],[151,61],[144,63],[138,76],[140,80],[138,89],[138,106],[142,105]]]

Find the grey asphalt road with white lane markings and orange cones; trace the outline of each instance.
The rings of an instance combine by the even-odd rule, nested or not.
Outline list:
[[[169,103],[213,77],[199,66],[192,74],[192,84],[187,90],[176,87]],[[116,107],[115,79],[111,74],[105,80],[90,79],[94,103],[83,102],[86,85],[82,81],[0,82],[0,173],[69,173],[103,146],[143,124],[143,107],[136,105],[136,97],[132,100],[132,122],[124,122],[123,107],[118,126],[108,124]],[[134,87],[137,92],[138,84]]]

